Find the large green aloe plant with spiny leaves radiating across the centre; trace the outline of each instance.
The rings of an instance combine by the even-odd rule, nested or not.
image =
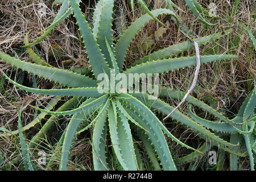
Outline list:
[[[73,140],[78,134],[88,129],[90,126],[93,126],[92,153],[95,170],[110,169],[109,160],[106,158],[106,139],[108,135],[110,135],[110,142],[112,143],[113,151],[118,159],[118,163],[120,164],[121,169],[125,170],[137,170],[141,169],[143,166],[142,160],[138,155],[138,147],[134,143],[135,138],[143,141],[144,148],[148,153],[148,158],[155,169],[176,170],[175,161],[172,159],[170,147],[167,144],[164,134],[181,146],[186,147],[189,150],[193,150],[196,154],[203,154],[202,151],[205,151],[205,147],[200,147],[196,150],[195,148],[187,146],[187,144],[184,144],[179,139],[175,138],[174,135],[172,135],[164,126],[164,123],[162,123],[153,113],[151,109],[155,109],[159,113],[167,115],[174,109],[174,107],[166,104],[163,100],[160,100],[159,98],[155,98],[154,101],[148,100],[148,98],[152,98],[150,94],[135,92],[136,90],[133,90],[131,93],[127,93],[126,89],[133,86],[133,83],[129,82],[127,85],[122,84],[123,80],[112,82],[111,79],[109,79],[109,89],[107,89],[107,92],[99,92],[99,89],[102,89],[100,86],[102,81],[100,76],[102,73],[105,73],[106,76],[111,78],[119,75],[120,73],[122,73],[123,76],[129,76],[131,73],[137,73],[138,75],[141,73],[164,73],[196,65],[195,56],[173,58],[179,53],[193,48],[192,42],[187,41],[160,49],[159,51],[153,52],[150,55],[144,56],[135,61],[131,67],[127,69],[123,68],[127,49],[138,31],[141,30],[141,28],[143,28],[151,19],[162,14],[174,16],[177,20],[176,22],[179,22],[174,11],[168,9],[157,9],[152,10],[150,15],[142,15],[141,18],[135,20],[135,22],[133,22],[131,26],[123,32],[117,43],[114,43],[112,36],[112,11],[114,1],[98,1],[97,7],[99,7],[100,10],[94,13],[93,29],[90,28],[90,25],[86,22],[78,2],[79,1],[64,0],[59,13],[53,20],[52,25],[47,28],[46,33],[42,36],[46,36],[51,31],[50,29],[56,26],[58,22],[73,13],[84,41],[90,67],[92,68],[93,78],[79,73],[53,68],[51,65],[41,60],[40,57],[33,57],[32,55],[34,55],[34,52],[29,47],[40,42],[40,40],[43,39],[42,36],[33,43],[28,43],[27,38],[25,40],[24,47],[27,48],[27,51],[35,64],[15,59],[6,53],[0,52],[0,58],[5,60],[6,63],[13,65],[13,67],[32,73],[33,75],[38,75],[39,77],[46,78],[50,81],[57,82],[62,86],[60,89],[29,88],[11,80],[11,78],[8,77],[2,69],[0,69],[7,80],[15,86],[18,86],[20,89],[31,93],[55,96],[55,98],[51,100],[53,103],[49,104],[45,109],[36,107],[36,109],[42,111],[42,113],[40,113],[42,114],[42,117],[35,118],[34,121],[28,124],[29,126],[23,127],[23,131],[28,130],[36,123],[40,122],[40,119],[42,119],[46,114],[52,115],[44,124],[42,129],[34,136],[34,138],[32,138],[28,148],[37,147],[40,143],[40,138],[42,138],[45,133],[50,134],[52,132],[51,130],[53,129],[57,118],[62,115],[71,115],[71,120],[59,140],[59,145],[62,146],[61,160],[59,164],[60,170],[67,170]],[[196,41],[199,46],[204,45],[210,41],[221,38],[229,32],[230,30],[225,31],[224,33],[205,36],[203,38],[196,39]],[[237,56],[209,55],[201,56],[200,59],[201,64],[203,64],[224,59],[237,59]],[[117,85],[119,85],[119,88]],[[122,85],[122,87],[120,85]],[[113,90],[112,88],[118,89],[114,89],[114,92],[111,92],[111,90]],[[169,88],[160,88],[161,97],[172,97],[177,99],[182,94],[183,93]],[[57,104],[57,101],[59,101],[62,96],[69,96],[72,98],[60,106],[59,109],[51,111],[53,106]],[[237,129],[236,131],[241,130],[241,123],[237,123],[236,121],[232,121],[224,117],[224,115],[221,115],[203,102],[190,96],[187,98],[187,101],[191,101],[190,103],[192,105],[209,111],[209,113],[220,118],[226,125],[229,125],[229,127],[233,127],[235,130]],[[91,121],[86,127],[81,128],[81,126],[83,126],[82,124],[84,124],[85,121],[88,121],[88,117],[89,115],[92,115],[92,113],[95,113],[93,121]],[[57,117],[55,115],[57,115]],[[241,154],[241,152],[234,150],[234,147],[237,147],[237,143],[230,143],[223,140],[218,137],[218,135],[205,129],[201,123],[197,123],[197,119],[193,121],[191,118],[188,118],[177,110],[171,115],[171,118],[183,123],[190,129],[195,130],[199,133],[201,138],[207,141],[212,141],[214,145],[222,148],[222,150],[228,151],[232,155],[245,156],[245,154]],[[249,126],[250,129],[251,127],[254,127],[254,125]],[[2,129],[2,131],[5,130],[6,129]],[[244,129],[244,132],[247,134],[246,128]],[[20,129],[18,133],[20,134]],[[1,137],[14,134],[17,134],[17,131],[6,132],[5,134],[1,134]],[[177,163],[180,162],[180,160],[176,161]],[[51,160],[49,163],[51,163]],[[48,166],[51,166],[51,164],[48,164]]]

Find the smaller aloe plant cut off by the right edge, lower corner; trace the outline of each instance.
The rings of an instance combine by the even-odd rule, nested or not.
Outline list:
[[[247,152],[250,160],[250,169],[254,170],[254,161],[256,157],[256,146],[255,146],[255,106],[256,106],[256,94],[255,89],[249,94],[249,96],[243,101],[236,117],[232,119],[233,122],[242,125],[230,125],[225,122],[213,122],[198,117],[192,111],[192,105],[188,105],[189,115],[200,125],[207,127],[208,129],[214,130],[218,133],[225,133],[230,136],[231,143],[241,143],[241,150]],[[234,147],[233,150],[238,151],[238,147]],[[238,167],[238,156],[230,154],[230,169],[237,170]]]

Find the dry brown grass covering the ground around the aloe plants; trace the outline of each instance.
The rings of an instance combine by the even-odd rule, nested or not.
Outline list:
[[[26,51],[19,47],[23,45],[23,39],[28,30],[32,31],[30,35],[30,41],[35,40],[41,31],[44,30],[52,22],[53,17],[56,15],[59,6],[55,6],[54,11],[51,10],[52,1],[43,1],[46,7],[46,14],[39,13],[40,0],[27,0],[27,1],[9,1],[3,0],[0,3],[0,51],[7,52],[11,55],[16,55],[19,59],[30,61]],[[124,2],[122,0],[122,2]],[[155,1],[154,9],[164,7],[163,1]],[[237,11],[234,10],[235,1],[214,1],[217,5],[217,12],[219,18],[214,20],[217,26],[212,28],[205,27],[195,16],[192,15],[188,7],[185,6],[184,1],[173,1],[183,11],[178,11],[179,16],[183,19],[184,23],[199,37],[213,34],[214,32],[221,32],[228,28],[233,28],[233,31],[224,38],[200,47],[200,54],[207,53],[222,54],[230,53],[239,57],[239,60],[232,61],[219,61],[216,63],[201,65],[197,86],[193,95],[200,98],[201,96],[212,96],[217,99],[218,109],[225,114],[233,115],[237,113],[242,101],[246,97],[247,93],[254,88],[255,76],[256,76],[256,57],[253,44],[247,35],[241,23],[249,27],[252,32],[255,32],[255,2],[249,0],[241,0]],[[209,1],[199,1],[201,5],[207,7]],[[129,14],[127,16],[127,23],[130,24],[135,18],[144,14],[144,11],[139,9],[139,6],[135,4],[135,16],[131,14],[130,8],[125,7]],[[83,5],[83,7],[87,7]],[[92,9],[85,9],[86,12],[92,11]],[[85,11],[84,10],[84,11]],[[254,17],[254,18],[253,18]],[[162,22],[169,20],[166,16],[159,17]],[[171,24],[171,28],[174,31],[166,31],[163,37],[155,42],[152,51],[156,51],[160,48],[168,47],[172,44],[183,42],[187,40],[183,34],[177,34],[176,27]],[[126,57],[126,65],[133,63],[134,60],[139,59],[149,53],[149,50],[144,51],[142,44],[146,42],[148,36],[154,34],[156,30],[159,30],[160,26],[154,21],[150,21],[139,31],[139,34],[131,44]],[[61,22],[52,32],[47,36],[40,44],[36,46],[38,48],[42,59],[46,60],[49,64],[56,67],[63,68],[61,61],[63,57],[65,59],[72,59],[72,66],[77,64],[88,66],[88,61],[85,53],[85,49],[80,47],[81,39],[77,35],[77,26],[73,22],[72,18],[66,19]],[[57,55],[49,56],[52,45],[57,44],[61,47],[63,56]],[[188,51],[186,55],[192,55],[195,51]],[[183,56],[183,55],[180,55]],[[5,61],[0,60],[0,67],[9,69],[10,72],[17,77],[18,71],[13,70],[10,65],[7,65]],[[194,67],[180,69],[170,73],[164,73],[162,75],[162,84],[169,86],[170,88],[186,91],[189,89],[192,83]],[[31,77],[28,77],[31,80]],[[27,78],[26,78],[27,79]],[[38,79],[38,85],[40,88],[46,87],[46,81]],[[28,82],[28,85],[32,85],[32,82]],[[53,86],[53,84],[49,84]],[[17,107],[23,105],[23,121],[26,123],[33,119],[34,110],[28,107],[28,104],[36,102],[38,105],[45,105],[49,97],[37,96],[36,94],[24,93],[16,90],[12,85],[5,85],[4,92],[0,94],[0,127],[9,126],[11,130],[16,129],[18,110]],[[179,101],[169,100],[167,102],[170,105],[177,105]],[[181,108],[183,113],[186,113],[186,105]],[[168,123],[169,122],[169,123]],[[23,123],[26,125],[26,123]],[[180,124],[167,121],[167,126],[170,126],[172,133],[183,142],[190,140],[190,143],[199,146],[201,140],[198,140],[191,130],[184,129]],[[31,139],[31,133],[28,133],[28,139]],[[90,135],[86,135],[84,138],[80,138],[74,144],[72,150],[72,163],[69,165],[69,169],[92,169],[92,154],[89,143]],[[193,142],[191,142],[191,139]],[[171,143],[171,142],[170,142]],[[11,155],[11,152],[17,148],[16,138],[0,139],[0,150],[3,155],[9,156],[7,160],[9,162],[14,159],[15,156]],[[54,148],[49,146],[49,148]],[[177,146],[176,143],[172,143],[172,152],[174,156],[179,156],[187,152],[185,148]],[[54,150],[58,150],[55,148]],[[53,154],[53,152],[52,152]],[[47,157],[51,157],[49,154]],[[82,156],[82,158],[81,158]],[[57,160],[57,159],[56,159]],[[205,159],[202,159],[205,160]],[[57,160],[58,161],[58,160]],[[56,161],[56,162],[57,162]],[[242,166],[246,166],[246,162],[242,162]],[[180,169],[187,169],[188,166],[179,166]],[[14,166],[13,170],[19,169],[19,166]]]

